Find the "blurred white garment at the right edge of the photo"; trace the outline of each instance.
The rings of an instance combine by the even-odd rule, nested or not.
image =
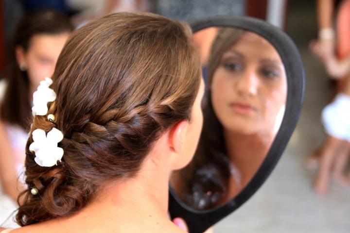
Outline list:
[[[335,100],[322,110],[321,117],[329,135],[350,142],[350,96],[338,94]]]

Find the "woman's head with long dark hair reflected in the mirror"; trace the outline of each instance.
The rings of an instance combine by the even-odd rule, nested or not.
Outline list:
[[[229,195],[232,161],[227,131],[259,133],[269,145],[273,137],[266,133],[275,133],[287,87],[283,64],[271,44],[254,33],[232,28],[218,30],[207,74],[209,90],[199,145],[192,162],[179,172],[181,183],[175,180],[179,198],[199,210],[217,207]]]

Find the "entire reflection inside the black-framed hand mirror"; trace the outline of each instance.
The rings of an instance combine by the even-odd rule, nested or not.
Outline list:
[[[278,52],[256,33],[211,27],[194,41],[207,87],[203,131],[171,185],[189,207],[209,210],[237,196],[261,166],[284,114],[287,79]]]

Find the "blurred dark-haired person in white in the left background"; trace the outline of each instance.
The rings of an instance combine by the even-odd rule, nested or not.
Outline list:
[[[9,57],[5,94],[0,100],[0,180],[17,200],[23,171],[32,95],[42,77],[51,77],[59,53],[73,31],[69,18],[52,10],[26,15],[18,24]]]

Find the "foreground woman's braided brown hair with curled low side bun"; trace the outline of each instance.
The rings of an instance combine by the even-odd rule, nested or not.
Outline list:
[[[190,120],[200,62],[190,28],[147,13],[101,17],[72,33],[53,74],[49,106],[64,134],[61,163],[41,167],[26,148],[21,226],[83,208],[105,182],[134,176],[161,133]],[[35,116],[31,132],[54,124]],[[36,187],[37,195],[30,189]]]

